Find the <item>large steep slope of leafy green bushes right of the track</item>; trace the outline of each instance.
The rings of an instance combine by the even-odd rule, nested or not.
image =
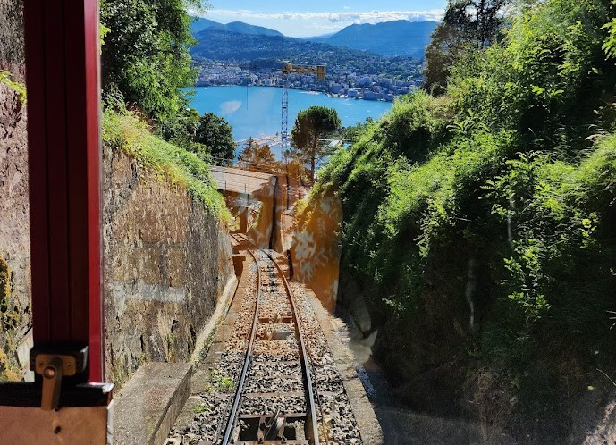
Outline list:
[[[525,438],[518,417],[567,437],[573,403],[616,375],[615,14],[546,0],[508,16],[443,95],[368,122],[312,191],[342,198],[341,280],[363,290],[386,369],[441,370],[451,405]]]

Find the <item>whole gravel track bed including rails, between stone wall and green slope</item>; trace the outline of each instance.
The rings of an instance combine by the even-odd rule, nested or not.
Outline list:
[[[273,253],[236,241],[246,253],[240,285],[166,443],[364,443],[307,297]]]

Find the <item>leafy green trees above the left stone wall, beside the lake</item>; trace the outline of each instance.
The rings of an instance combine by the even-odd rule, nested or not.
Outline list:
[[[197,79],[189,48],[188,7],[203,0],[101,2],[102,83],[105,108],[126,108],[175,146],[197,154],[233,157],[232,129],[224,119],[187,108]]]

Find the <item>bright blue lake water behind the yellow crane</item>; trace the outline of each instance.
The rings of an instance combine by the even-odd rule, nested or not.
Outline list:
[[[190,106],[199,113],[224,117],[232,125],[236,141],[249,137],[265,139],[278,152],[274,135],[281,130],[282,96],[282,88],[275,87],[198,87]],[[290,89],[290,133],[297,114],[311,105],[335,108],[344,127],[364,122],[367,117],[377,119],[392,108],[388,102],[328,97],[323,93]]]

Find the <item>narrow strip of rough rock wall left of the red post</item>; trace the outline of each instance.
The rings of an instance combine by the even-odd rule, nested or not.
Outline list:
[[[26,106],[0,83],[0,380],[27,370],[30,293]]]

